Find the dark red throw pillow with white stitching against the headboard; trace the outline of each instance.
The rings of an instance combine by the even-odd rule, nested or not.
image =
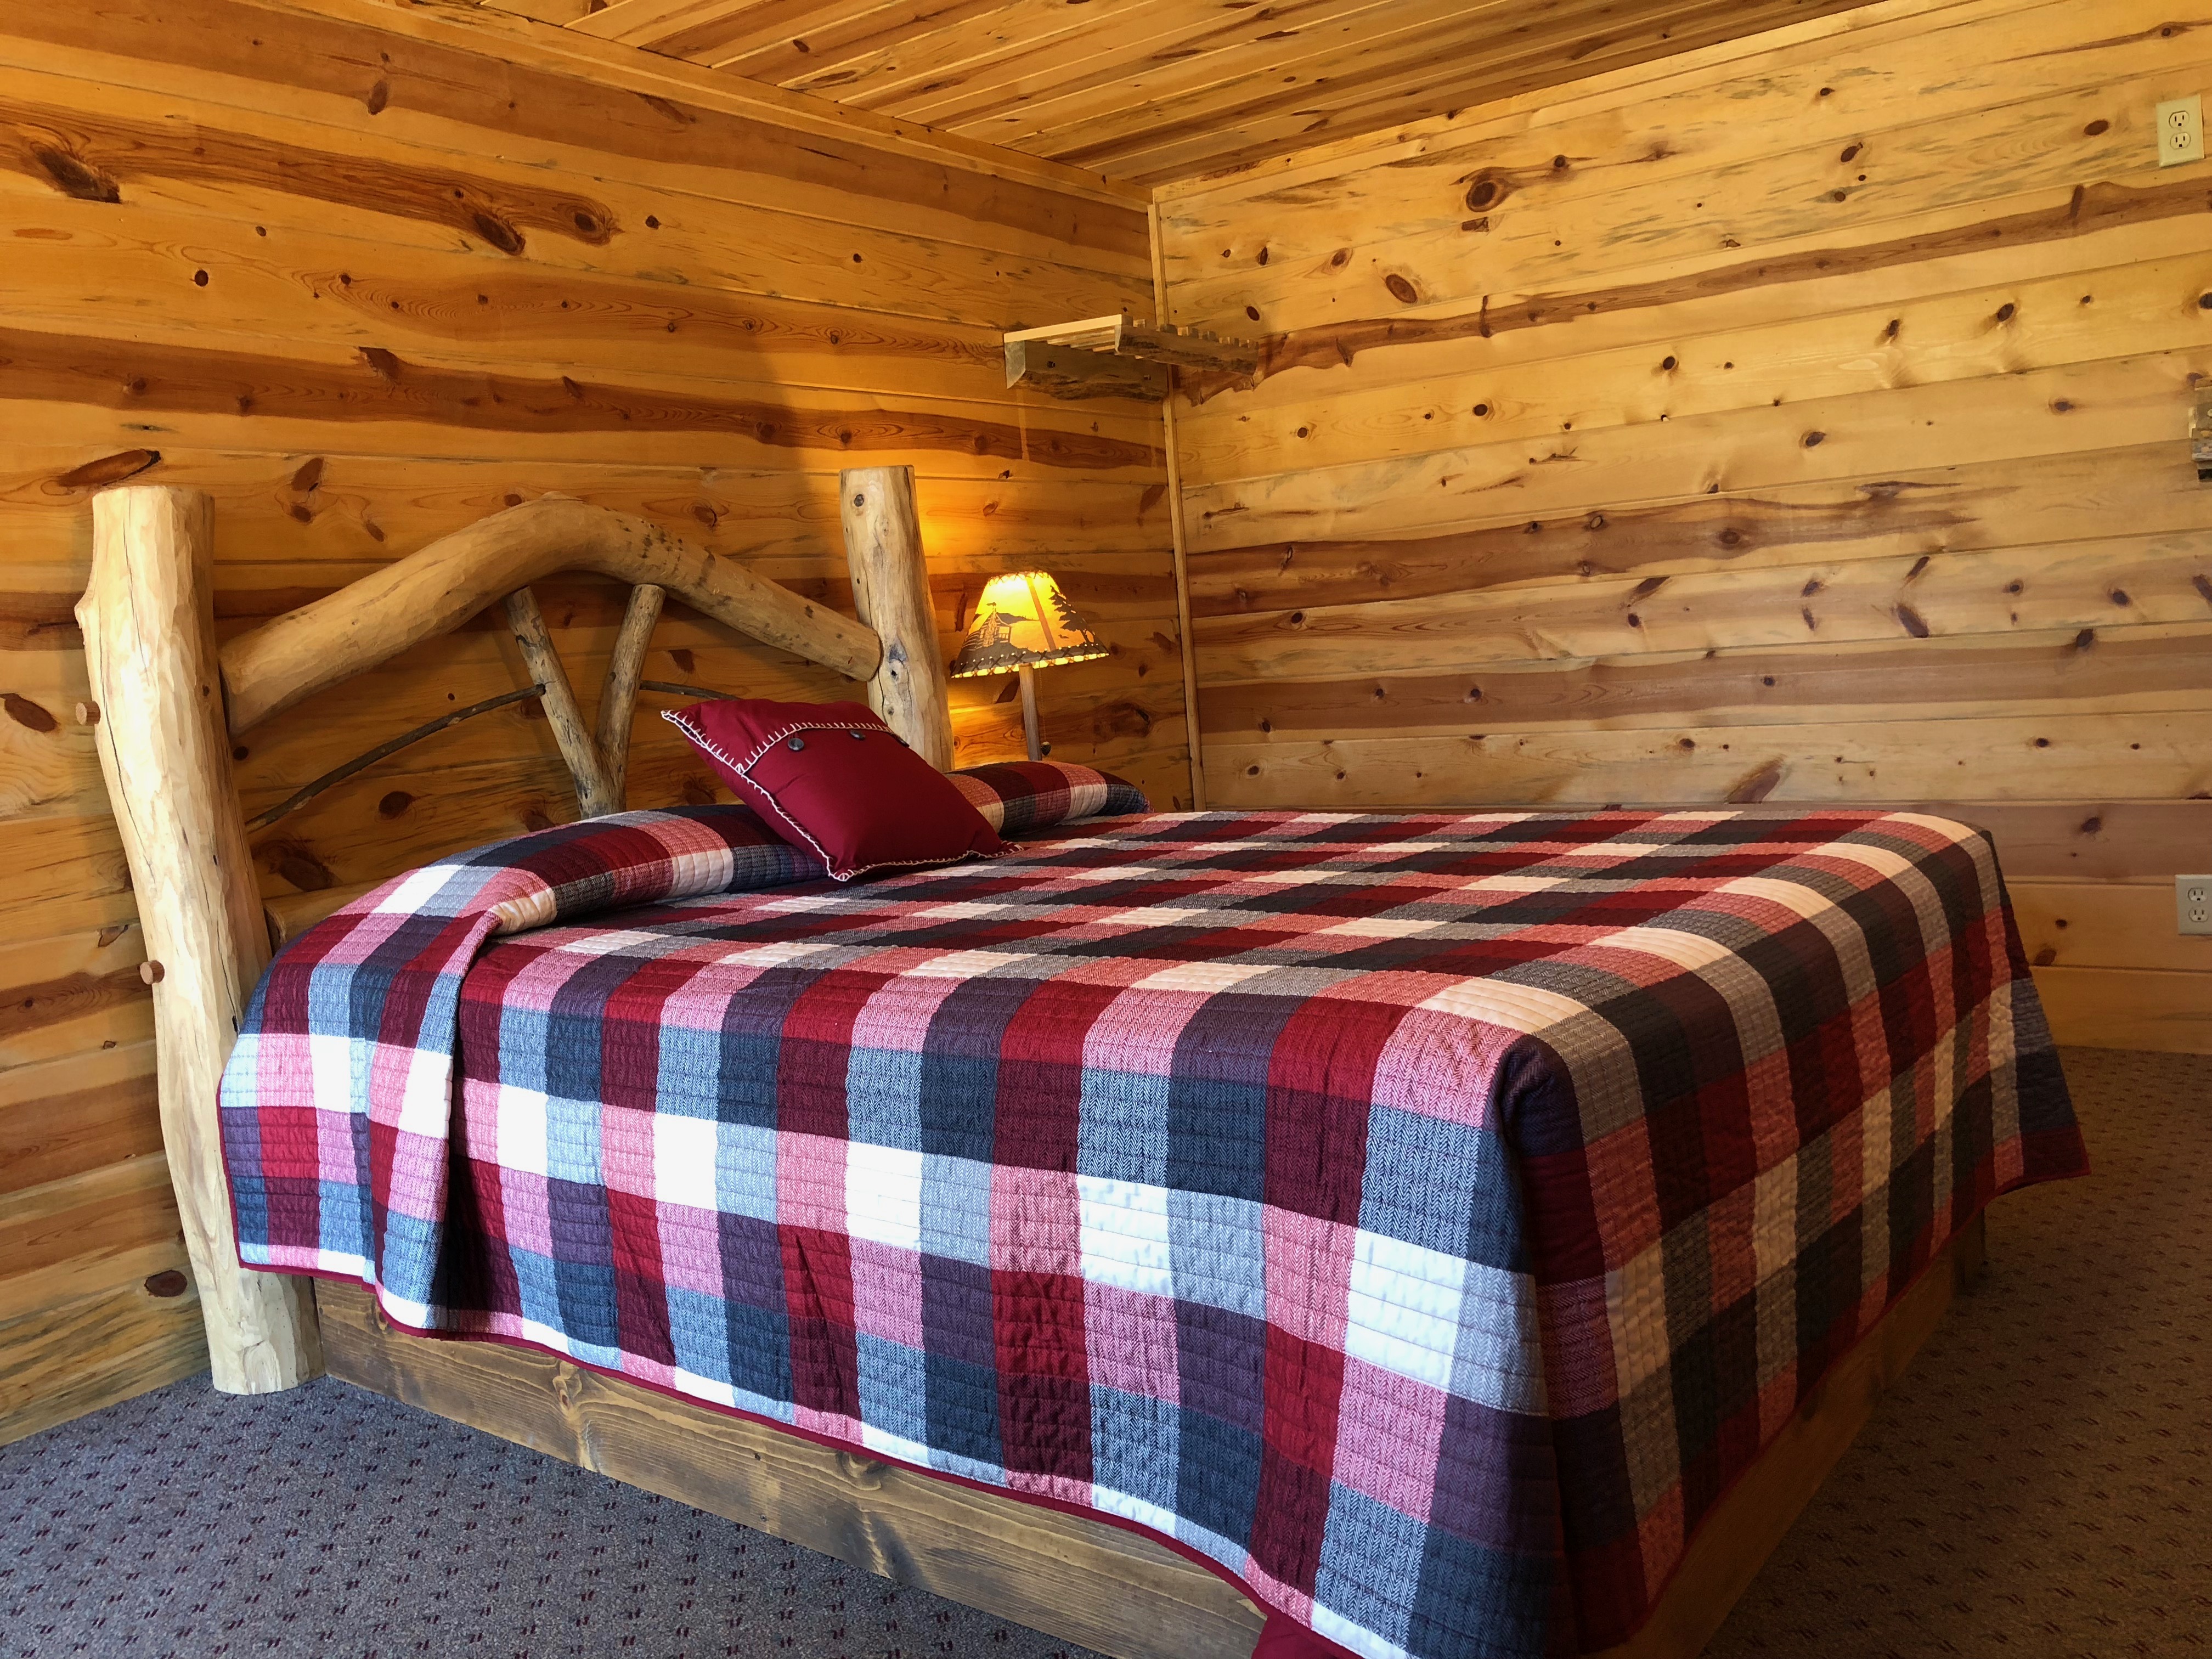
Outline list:
[[[860,703],[732,697],[661,719],[697,743],[772,830],[812,847],[836,880],[1006,849],[951,779]]]

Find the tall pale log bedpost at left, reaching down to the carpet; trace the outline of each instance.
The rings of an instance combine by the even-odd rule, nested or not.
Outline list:
[[[290,1389],[323,1369],[303,1279],[239,1265],[217,1084],[268,962],[215,657],[215,504],[126,484],[93,498],[77,604],[108,783],[155,998],[161,1141],[208,1323],[215,1387]]]

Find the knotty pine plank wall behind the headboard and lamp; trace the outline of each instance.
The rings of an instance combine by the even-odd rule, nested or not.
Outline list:
[[[212,491],[228,635],[544,491],[849,608],[836,471],[911,462],[947,650],[993,571],[1048,564],[1115,644],[1040,679],[1055,752],[1188,805],[1159,411],[1015,400],[998,345],[1148,310],[1141,201],[836,113],[779,126],[684,64],[564,73],[538,24],[500,24],[367,0],[0,13],[0,1440],[206,1363],[144,953],[75,721],[102,484]],[[624,595],[540,597],[595,697]],[[646,677],[858,695],[675,606]],[[257,728],[246,807],[520,684],[480,619]],[[958,684],[962,761],[1020,754],[1011,690]],[[714,787],[653,719],[668,701],[639,699],[635,805]],[[518,703],[254,852],[276,896],[573,812]]]

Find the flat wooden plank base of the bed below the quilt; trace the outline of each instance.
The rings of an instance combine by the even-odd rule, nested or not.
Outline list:
[[[1975,1217],[1721,1500],[1646,1628],[1599,1659],[1694,1659],[1982,1270]],[[1113,1659],[1248,1659],[1261,1613],[1168,1548],[1082,1515],[781,1433],[538,1349],[392,1329],[316,1283],[330,1374]]]

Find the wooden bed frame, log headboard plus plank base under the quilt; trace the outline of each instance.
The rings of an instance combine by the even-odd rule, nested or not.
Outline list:
[[[159,484],[93,498],[93,568],[77,606],[93,701],[80,719],[97,728],[146,929],[161,1135],[215,1387],[268,1394],[327,1369],[1115,1659],[1248,1659],[1263,1615],[1152,1535],[830,1449],[546,1352],[405,1336],[363,1287],[239,1265],[215,1110],[223,1062],[272,945],[363,889],[263,907],[230,776],[234,737],[500,604],[529,688],[380,745],[263,821],[403,743],[520,697],[542,699],[580,812],[617,812],[639,688],[699,690],[639,679],[653,624],[675,595],[737,633],[865,681],[885,723],[949,765],[951,712],[914,473],[845,471],[838,500],[858,622],[655,524],[546,495],[217,648],[210,498]],[[531,595],[531,582],[573,568],[630,584],[593,726]],[[1980,1272],[1982,1237],[1975,1219],[1829,1371],[1705,1520],[1644,1630],[1606,1659],[1690,1659],[1705,1646],[1874,1400]]]

